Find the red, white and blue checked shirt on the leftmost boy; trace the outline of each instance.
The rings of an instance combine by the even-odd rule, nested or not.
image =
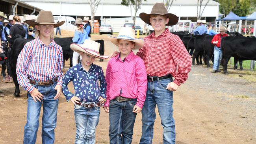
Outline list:
[[[57,84],[62,86],[62,66],[61,46],[53,40],[46,46],[37,37],[27,42],[19,54],[16,68],[18,83],[28,92],[34,89],[28,78],[36,81],[58,78]]]

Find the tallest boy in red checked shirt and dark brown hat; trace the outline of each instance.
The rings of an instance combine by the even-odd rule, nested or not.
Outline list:
[[[175,144],[173,91],[188,78],[191,57],[180,38],[165,28],[176,24],[178,17],[168,13],[163,3],[156,3],[150,14],[140,13],[139,17],[154,28],[137,53],[145,63],[148,78],[140,144],[152,144],[156,105],[163,126],[163,144]]]

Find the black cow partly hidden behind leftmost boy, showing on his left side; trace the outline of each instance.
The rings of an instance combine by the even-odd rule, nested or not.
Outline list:
[[[19,56],[21,50],[23,49],[24,45],[31,40],[32,39],[30,39],[30,40],[24,39],[21,35],[15,35],[13,37],[13,45],[11,47],[11,54],[10,54],[10,57],[8,57],[8,59],[10,62],[9,66],[10,66],[10,70],[11,70],[11,76],[13,77],[13,81],[15,84],[15,92],[13,94],[15,97],[20,96],[19,83],[18,83],[17,74],[16,74],[17,59],[18,59],[18,56]]]

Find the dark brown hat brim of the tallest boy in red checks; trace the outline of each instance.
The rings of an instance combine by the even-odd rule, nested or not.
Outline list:
[[[170,20],[169,22],[166,24],[166,26],[173,26],[175,24],[177,24],[178,22],[178,17],[172,13],[167,13],[167,14],[159,14],[159,13],[150,13],[150,14],[147,14],[147,13],[140,13],[139,14],[139,17],[141,18],[141,20],[143,20],[144,22],[146,22],[147,24],[149,24],[151,26],[151,23],[150,23],[150,15],[163,15],[163,16],[166,16],[168,17]]]

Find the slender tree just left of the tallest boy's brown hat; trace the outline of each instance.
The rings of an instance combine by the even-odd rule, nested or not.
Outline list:
[[[144,1],[146,2],[147,0],[144,0]],[[127,7],[130,6],[131,17],[132,17],[132,21],[134,22],[134,25],[135,25],[135,20],[136,20],[136,14],[141,6],[141,2],[142,2],[142,0],[122,0],[122,2],[121,2],[121,5],[124,5]],[[134,8],[134,14],[132,13],[132,7]]]

